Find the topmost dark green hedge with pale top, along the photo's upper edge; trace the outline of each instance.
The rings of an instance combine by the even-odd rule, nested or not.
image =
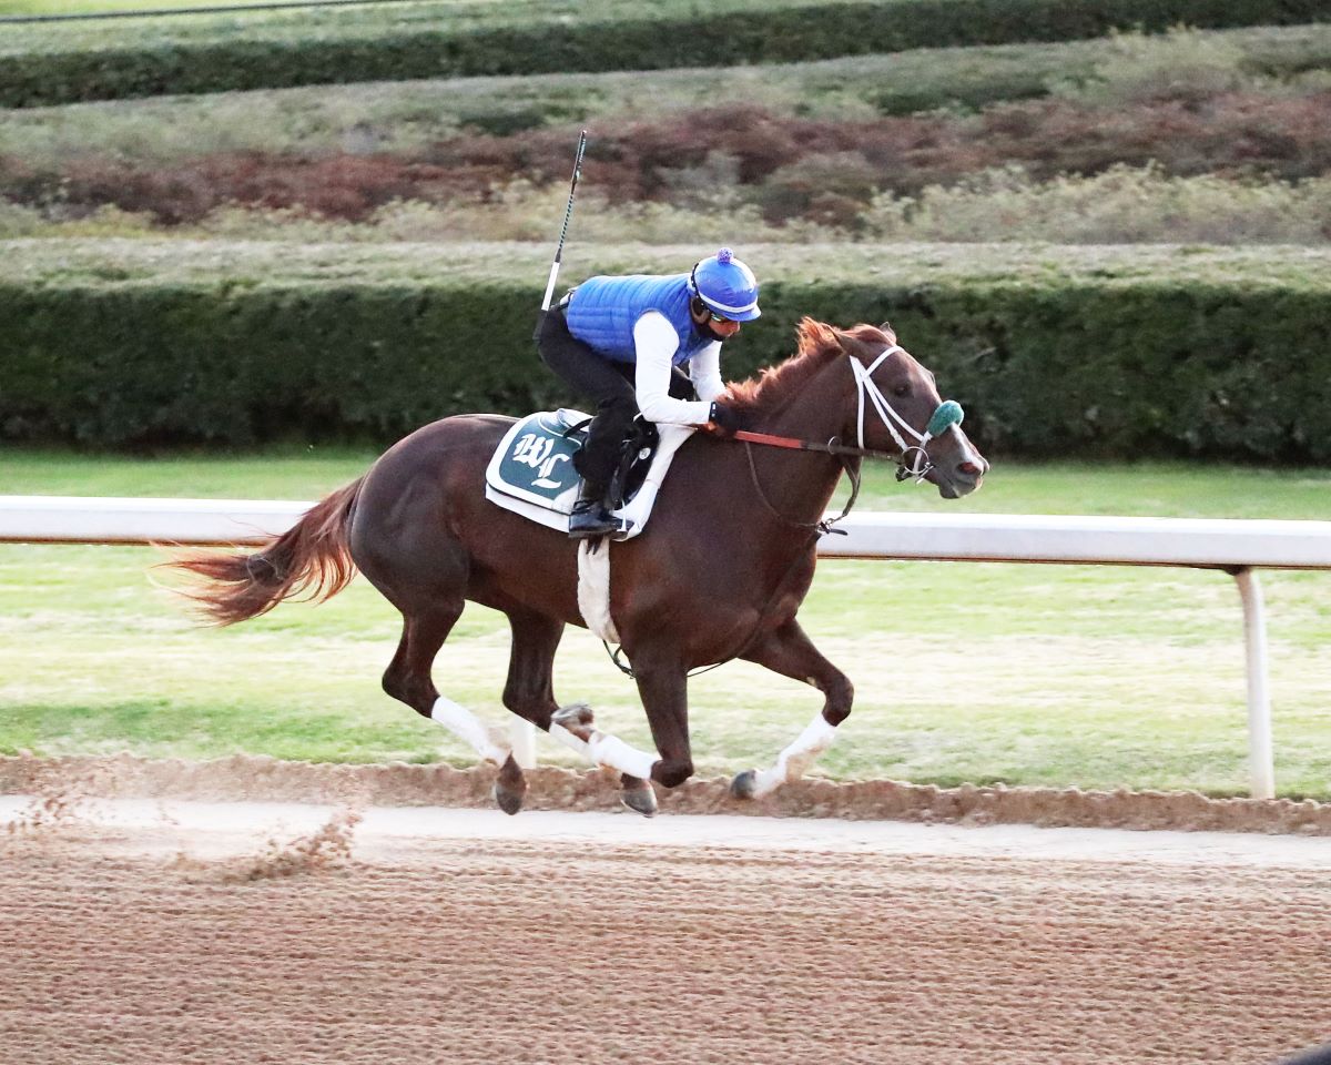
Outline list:
[[[202,16],[200,16],[202,17]],[[719,0],[421,5],[9,27],[0,106],[465,75],[733,67],[1331,20],[1326,0]]]

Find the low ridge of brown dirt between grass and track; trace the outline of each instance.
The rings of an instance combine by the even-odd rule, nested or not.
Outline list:
[[[619,776],[550,765],[528,769],[523,809],[618,808]],[[0,795],[45,797],[49,819],[77,796],[174,797],[334,803],[351,805],[443,805],[494,809],[494,767],[455,769],[409,765],[282,761],[234,755],[212,761],[153,760],[134,755],[43,759],[0,756]],[[1082,828],[1153,828],[1331,836],[1331,803],[1294,799],[1211,799],[1198,792],[1082,791],[962,784],[940,788],[896,780],[837,783],[805,777],[756,801],[737,801],[725,777],[693,777],[666,792],[667,813],[729,813],[763,817],[839,817],[962,824],[1038,824]]]

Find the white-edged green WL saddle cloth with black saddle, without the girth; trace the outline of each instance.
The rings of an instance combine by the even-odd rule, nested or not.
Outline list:
[[[528,414],[510,429],[486,467],[486,499],[539,525],[568,532],[568,515],[578,499],[578,451],[587,439],[591,415],[579,410]],[[634,422],[620,449],[612,482],[619,531],[627,540],[647,526],[656,493],[671,459],[695,429],[687,425]]]

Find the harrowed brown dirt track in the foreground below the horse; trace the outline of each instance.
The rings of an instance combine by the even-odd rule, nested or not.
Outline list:
[[[1331,1034],[1319,839],[4,803],[5,1065],[1259,1065]]]

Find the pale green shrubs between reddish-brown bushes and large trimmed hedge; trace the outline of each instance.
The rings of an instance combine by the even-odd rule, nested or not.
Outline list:
[[[1038,244],[1059,245],[1324,245],[1331,240],[1331,176],[1299,182],[1173,177],[1158,166],[1111,166],[1093,177],[1041,181],[1012,166],[970,174],[917,196],[878,193],[836,221],[768,221],[739,186],[716,189],[708,202],[610,202],[584,193],[578,234],[595,245],[673,244],[680,233],[725,233],[755,244]],[[311,217],[299,208],[266,210],[228,205],[194,224],[162,222],[152,213],[100,206],[87,214],[49,205],[0,201],[4,240],[280,241],[287,244],[550,242],[550,220],[566,189],[518,180],[484,201],[402,201],[366,221]]]

